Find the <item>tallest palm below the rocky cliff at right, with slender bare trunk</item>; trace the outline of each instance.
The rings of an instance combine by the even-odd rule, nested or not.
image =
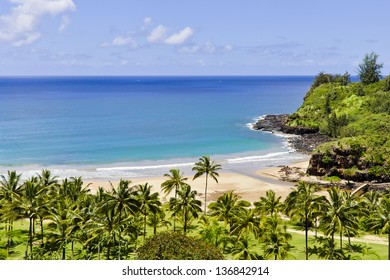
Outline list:
[[[300,181],[295,190],[293,190],[285,200],[285,211],[290,217],[296,217],[305,224],[305,255],[306,260],[309,259],[308,253],[308,232],[309,225],[313,222],[323,197],[317,196],[314,193],[319,190],[319,187],[307,182]]]

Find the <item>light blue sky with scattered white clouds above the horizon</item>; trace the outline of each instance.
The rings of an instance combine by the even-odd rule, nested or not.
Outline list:
[[[390,73],[388,0],[0,0],[0,75]]]

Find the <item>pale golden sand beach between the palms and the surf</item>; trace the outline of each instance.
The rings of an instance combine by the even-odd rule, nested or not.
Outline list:
[[[308,161],[298,162],[291,164],[290,166],[307,167]],[[234,190],[236,194],[241,196],[249,202],[258,201],[261,196],[264,196],[267,190],[273,190],[277,195],[282,197],[282,200],[291,192],[294,187],[293,183],[284,182],[279,180],[278,171],[280,167],[271,167],[262,170],[258,170],[253,174],[239,174],[239,173],[220,173],[218,184],[213,180],[209,180],[208,185],[208,200],[213,201],[221,194],[227,191]],[[124,178],[127,179],[127,178]],[[166,201],[169,197],[165,197],[161,191],[161,184],[166,180],[164,177],[154,178],[128,178],[131,180],[132,185],[148,183],[153,186],[153,190],[160,193],[162,201]],[[200,177],[196,180],[192,180],[192,177],[187,181],[193,190],[196,190],[200,198],[204,198],[205,177]],[[96,181],[89,180],[85,183],[90,183],[90,189],[95,192],[99,186],[109,190],[111,185],[108,181]],[[116,186],[118,181],[112,181],[112,184]]]

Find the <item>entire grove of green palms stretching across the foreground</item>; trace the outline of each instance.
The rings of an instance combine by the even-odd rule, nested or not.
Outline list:
[[[132,185],[121,179],[110,190],[98,188],[92,194],[80,177],[59,180],[42,170],[22,182],[20,174],[9,171],[0,176],[0,250],[8,256],[23,242],[25,259],[128,259],[135,258],[147,236],[163,228],[195,235],[229,258],[285,259],[293,251],[287,229],[291,224],[305,231],[305,248],[295,250],[304,250],[306,259],[350,257],[364,249],[350,240],[361,231],[387,233],[390,241],[389,194],[357,196],[331,188],[320,196],[317,186],[299,182],[284,202],[270,190],[252,205],[230,191],[207,204],[208,179],[218,182],[220,169],[208,156],[193,167],[193,179],[205,175],[203,210],[179,169],[164,175],[161,188],[171,194],[167,203],[148,183]],[[15,240],[16,221],[28,221],[23,241]],[[309,247],[312,231],[317,238]]]

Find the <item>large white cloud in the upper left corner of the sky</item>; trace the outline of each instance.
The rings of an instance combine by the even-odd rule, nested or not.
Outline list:
[[[14,4],[10,13],[0,15],[0,41],[15,46],[31,44],[41,37],[38,24],[45,15],[56,16],[74,11],[73,0],[8,0]]]

